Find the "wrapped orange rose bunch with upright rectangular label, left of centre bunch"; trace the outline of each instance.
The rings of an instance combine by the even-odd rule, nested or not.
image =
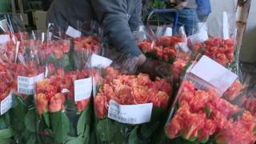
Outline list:
[[[36,84],[34,101],[44,134],[52,142],[89,142],[92,70],[64,71],[48,64],[48,78]],[[78,139],[79,138],[79,139]]]

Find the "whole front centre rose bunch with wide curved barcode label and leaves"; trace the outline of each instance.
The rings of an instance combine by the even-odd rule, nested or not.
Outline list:
[[[97,141],[149,142],[160,126],[171,93],[166,79],[152,81],[147,74],[126,75],[107,67],[94,97]]]

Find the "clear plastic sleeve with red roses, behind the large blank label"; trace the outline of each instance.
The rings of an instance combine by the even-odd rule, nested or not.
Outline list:
[[[214,61],[239,74],[239,52],[236,46],[236,19],[234,12],[213,12],[188,42],[194,53],[206,54]],[[201,25],[201,26],[200,26]]]

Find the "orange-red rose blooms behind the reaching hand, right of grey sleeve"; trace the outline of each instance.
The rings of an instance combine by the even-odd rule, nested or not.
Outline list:
[[[177,53],[175,45],[179,42],[184,42],[181,36],[164,36],[155,42],[150,42],[150,40],[138,42],[138,46],[150,57],[172,63]]]

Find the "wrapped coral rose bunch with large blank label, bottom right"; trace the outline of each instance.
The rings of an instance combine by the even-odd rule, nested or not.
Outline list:
[[[209,70],[202,69],[207,67],[202,63],[210,61],[210,66],[223,70],[219,76],[211,77]],[[242,84],[235,80],[235,74],[215,64],[203,56],[190,67],[166,123],[166,135],[173,140],[180,138],[181,142],[254,143],[256,119],[250,111],[234,103]]]

